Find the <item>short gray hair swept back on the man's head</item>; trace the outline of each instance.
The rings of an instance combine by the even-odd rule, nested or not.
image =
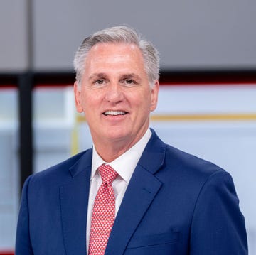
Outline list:
[[[159,52],[148,40],[142,38],[133,28],[128,26],[114,26],[93,33],[85,38],[75,53],[74,67],[75,79],[80,85],[85,70],[85,58],[89,50],[97,43],[128,43],[139,47],[144,58],[145,71],[149,78],[149,85],[159,80]]]

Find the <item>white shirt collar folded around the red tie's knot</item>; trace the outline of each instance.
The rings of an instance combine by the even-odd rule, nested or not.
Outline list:
[[[97,168],[101,166],[103,163],[110,165],[114,170],[122,177],[127,183],[132,177],[132,173],[139,162],[139,158],[142,156],[144,148],[146,144],[149,142],[151,137],[151,131],[148,129],[144,136],[129,148],[128,151],[123,153],[121,156],[116,158],[114,161],[107,163],[103,161],[100,155],[97,153],[95,146],[92,148],[92,173],[91,173],[91,180],[97,173]]]

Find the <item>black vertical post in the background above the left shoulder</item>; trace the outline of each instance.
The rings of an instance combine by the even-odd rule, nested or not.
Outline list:
[[[19,158],[21,187],[33,173],[33,129],[32,129],[32,87],[33,75],[21,74],[19,88]]]

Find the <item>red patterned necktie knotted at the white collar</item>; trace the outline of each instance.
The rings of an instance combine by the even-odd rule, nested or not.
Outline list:
[[[102,185],[95,198],[89,240],[89,255],[103,255],[114,224],[115,197],[112,182],[117,172],[109,165],[98,168]]]

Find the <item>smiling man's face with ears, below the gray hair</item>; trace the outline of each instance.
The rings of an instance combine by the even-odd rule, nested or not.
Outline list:
[[[148,129],[149,113],[156,109],[159,83],[149,87],[137,46],[95,45],[80,86],[75,82],[76,107],[85,113],[96,147],[120,141],[130,148],[139,141]]]

